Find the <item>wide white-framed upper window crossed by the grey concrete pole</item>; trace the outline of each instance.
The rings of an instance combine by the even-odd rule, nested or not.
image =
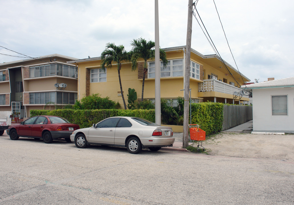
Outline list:
[[[155,62],[148,63],[148,78],[155,78]],[[160,61],[160,77],[183,76],[183,59],[168,60],[167,66]]]

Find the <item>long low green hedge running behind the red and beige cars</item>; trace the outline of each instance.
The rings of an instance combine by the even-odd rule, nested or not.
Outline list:
[[[53,115],[68,119],[71,123],[78,124],[80,128],[91,127],[93,124],[100,122],[108,117],[130,116],[140,117],[151,122],[155,122],[155,110],[120,110],[120,109],[104,109],[104,110],[31,110],[31,117],[37,115]]]

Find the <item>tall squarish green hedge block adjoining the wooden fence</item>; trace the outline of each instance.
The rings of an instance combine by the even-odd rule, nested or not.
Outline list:
[[[200,128],[206,132],[206,135],[222,130],[223,103],[192,103],[191,110],[192,124],[200,125]]]

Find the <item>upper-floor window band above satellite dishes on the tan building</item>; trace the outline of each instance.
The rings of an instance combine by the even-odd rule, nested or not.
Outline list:
[[[75,77],[76,67],[63,65],[59,63],[51,63],[48,65],[38,65],[30,67],[30,78],[45,77],[45,76],[64,76]]]

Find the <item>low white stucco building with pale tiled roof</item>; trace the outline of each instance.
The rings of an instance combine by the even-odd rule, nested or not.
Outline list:
[[[253,132],[294,133],[294,77],[242,88],[252,90]]]

